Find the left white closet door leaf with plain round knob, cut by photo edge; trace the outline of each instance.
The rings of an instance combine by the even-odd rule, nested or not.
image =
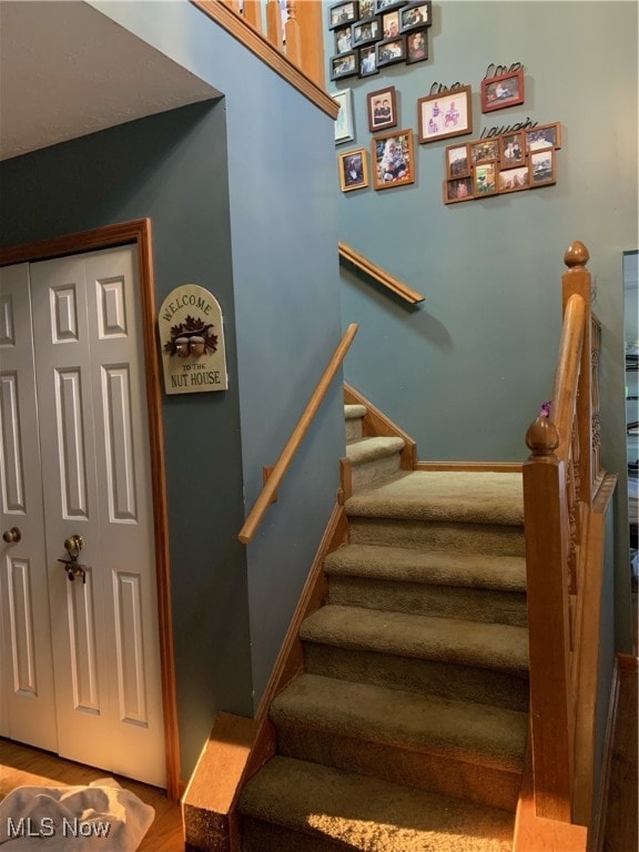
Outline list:
[[[0,270],[0,733],[57,750],[29,265]]]

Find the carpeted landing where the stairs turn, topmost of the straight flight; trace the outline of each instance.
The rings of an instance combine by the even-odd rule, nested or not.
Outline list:
[[[345,507],[348,516],[357,517],[519,526],[521,474],[402,471],[353,495]]]

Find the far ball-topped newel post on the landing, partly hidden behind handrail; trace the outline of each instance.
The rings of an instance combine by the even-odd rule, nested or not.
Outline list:
[[[586,264],[590,260],[588,248],[576,240],[570,244],[564,255],[564,263],[568,272],[564,273],[562,281],[562,311],[571,295],[577,293],[586,303],[586,320],[584,324],[584,344],[581,346],[581,362],[579,368],[579,384],[577,387],[577,435],[576,440],[579,447],[579,458],[577,460],[578,471],[578,499],[588,508],[592,506],[595,478],[599,474],[594,470],[594,447],[592,447],[592,397],[597,394],[594,387],[592,361],[597,358],[598,353],[592,348],[592,282]]]

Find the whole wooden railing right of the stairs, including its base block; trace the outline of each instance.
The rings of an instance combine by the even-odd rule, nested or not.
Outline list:
[[[594,820],[601,519],[616,478],[600,466],[600,326],[591,314],[588,258],[579,242],[566,253],[552,400],[526,435],[531,762],[517,852],[585,850]]]

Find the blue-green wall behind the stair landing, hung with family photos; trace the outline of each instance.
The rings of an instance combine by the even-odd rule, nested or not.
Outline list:
[[[524,436],[551,395],[562,258],[589,248],[602,322],[604,465],[619,473],[619,636],[629,647],[622,253],[637,247],[637,4],[435,2],[429,59],[395,64],[351,89],[355,140],[371,151],[367,92],[395,85],[398,129],[417,131],[417,99],[435,82],[473,88],[470,135],[416,143],[414,185],[341,194],[339,239],[425,295],[402,306],[342,272],[343,322],[361,324],[346,378],[398,422],[422,459],[520,462]],[[326,53],[332,33],[326,31]],[[525,103],[481,114],[489,63],[525,65]],[[527,118],[561,122],[557,184],[452,205],[445,149]]]

